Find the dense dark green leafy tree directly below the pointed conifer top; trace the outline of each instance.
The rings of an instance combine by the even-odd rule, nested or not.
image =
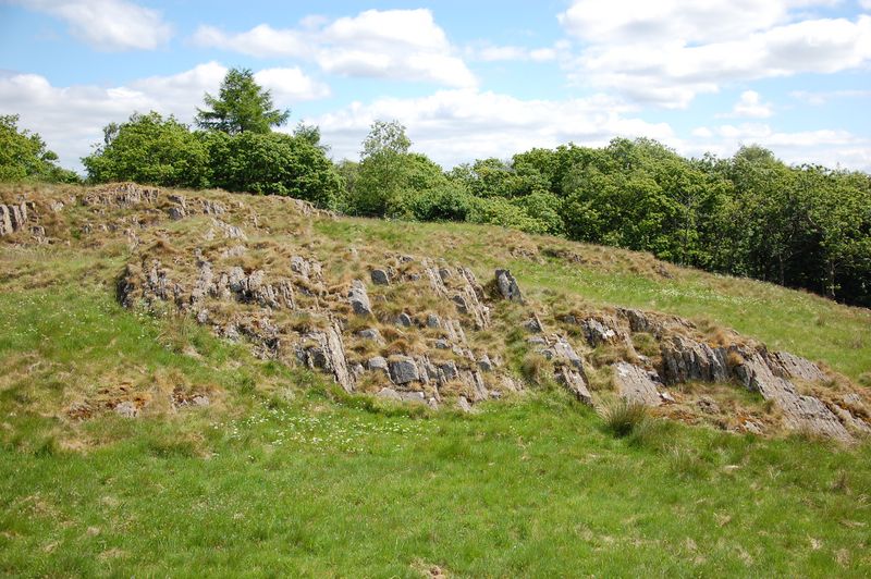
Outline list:
[[[203,139],[217,187],[286,195],[323,208],[336,205],[341,180],[323,150],[305,136],[209,133]]]

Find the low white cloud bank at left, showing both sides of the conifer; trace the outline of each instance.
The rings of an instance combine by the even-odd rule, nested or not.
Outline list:
[[[56,87],[37,74],[0,76],[0,114],[21,114],[20,126],[39,133],[64,167],[81,169],[81,157],[102,138],[102,127],[123,122],[134,111],[155,110],[189,123],[205,93],[216,94],[226,74],[217,62],[169,76],[143,78],[126,86]],[[272,90],[277,107],[326,96],[329,89],[299,69],[266,69],[255,73]]]

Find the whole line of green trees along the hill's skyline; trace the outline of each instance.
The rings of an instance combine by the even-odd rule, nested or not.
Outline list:
[[[537,148],[444,171],[405,127],[377,121],[358,161],[334,163],[315,126],[289,120],[248,70],[205,96],[197,130],[156,112],[108,125],[90,182],[289,195],[353,215],[465,221],[649,251],[871,306],[871,176],[790,167],[761,147],[687,159],[650,139]],[[0,180],[72,181],[37,135],[0,118]],[[5,146],[9,143],[9,146]]]

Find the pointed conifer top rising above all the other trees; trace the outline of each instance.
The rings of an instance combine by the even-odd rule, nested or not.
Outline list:
[[[231,69],[218,97],[207,93],[205,101],[209,109],[197,109],[197,126],[229,135],[269,133],[286,123],[291,114],[272,108],[272,95],[255,82],[248,69]]]

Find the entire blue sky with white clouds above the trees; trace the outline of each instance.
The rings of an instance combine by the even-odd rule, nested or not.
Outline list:
[[[871,172],[871,0],[0,0],[0,114],[70,169],[133,112],[192,123],[230,67],[335,160],[397,120],[445,168],[648,137]]]

